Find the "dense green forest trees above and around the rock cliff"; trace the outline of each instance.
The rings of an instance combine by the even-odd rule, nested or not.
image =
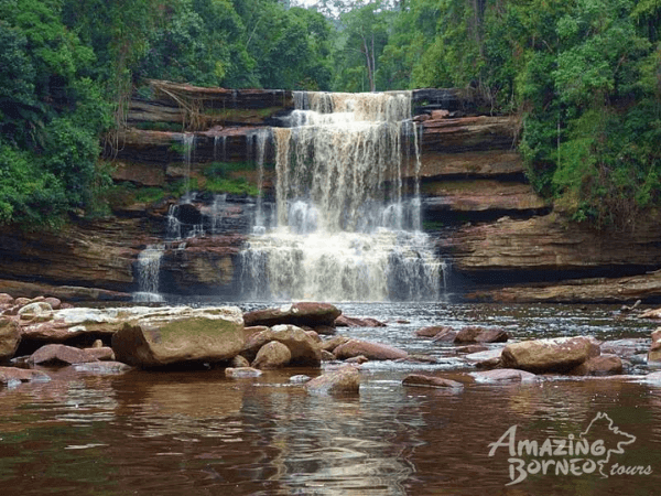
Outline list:
[[[0,224],[102,209],[99,139],[145,79],[473,87],[521,117],[532,185],[577,220],[661,206],[659,0],[0,0]]]

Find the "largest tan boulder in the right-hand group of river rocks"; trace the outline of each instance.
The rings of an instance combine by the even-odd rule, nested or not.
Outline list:
[[[510,344],[502,351],[501,363],[533,373],[565,373],[598,354],[598,346],[587,337],[556,337]]]

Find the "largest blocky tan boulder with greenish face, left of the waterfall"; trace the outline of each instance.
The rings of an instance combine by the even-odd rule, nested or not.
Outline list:
[[[127,322],[112,336],[117,359],[142,368],[223,362],[238,355],[243,345],[243,320],[235,306],[199,309],[182,319]]]

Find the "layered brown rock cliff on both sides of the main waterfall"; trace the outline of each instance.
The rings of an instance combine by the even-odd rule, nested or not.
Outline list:
[[[132,100],[129,127],[104,160],[117,184],[158,187],[165,194],[158,201],[115,202],[112,217],[75,222],[58,235],[0,230],[0,292],[129,299],[140,289],[139,254],[154,245],[162,252],[160,291],[236,296],[254,198],[205,193],[186,208],[174,206],[184,192],[183,182],[204,187],[205,169],[215,162],[231,165],[225,172],[227,180],[256,185],[259,130],[281,126],[293,107],[291,91],[153,82],[151,98]],[[451,260],[451,280],[464,284],[459,291],[508,301],[614,301],[618,294],[620,300],[661,294],[658,276],[629,277],[661,263],[661,223],[641,224],[635,233],[619,235],[571,224],[528,184],[514,151],[520,125],[516,118],[480,115],[477,97],[447,89],[414,91],[413,108],[422,128],[424,227]],[[268,201],[273,195],[274,150],[267,142],[262,152]],[[409,171],[409,180],[412,174]],[[204,226],[204,237],[163,241],[185,239],[196,225]],[[173,226],[178,226],[178,236],[170,231]],[[624,276],[629,278],[615,279]],[[535,289],[475,291],[485,284],[530,282],[538,284]],[[546,284],[543,291],[541,282]],[[551,282],[559,284],[550,289]],[[627,283],[629,289],[618,293]],[[588,287],[583,293],[577,289]]]

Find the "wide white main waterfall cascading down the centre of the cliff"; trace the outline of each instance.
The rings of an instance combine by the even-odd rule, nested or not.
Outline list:
[[[291,127],[272,130],[277,227],[241,254],[243,298],[437,299],[443,262],[420,231],[410,93],[294,100]]]

